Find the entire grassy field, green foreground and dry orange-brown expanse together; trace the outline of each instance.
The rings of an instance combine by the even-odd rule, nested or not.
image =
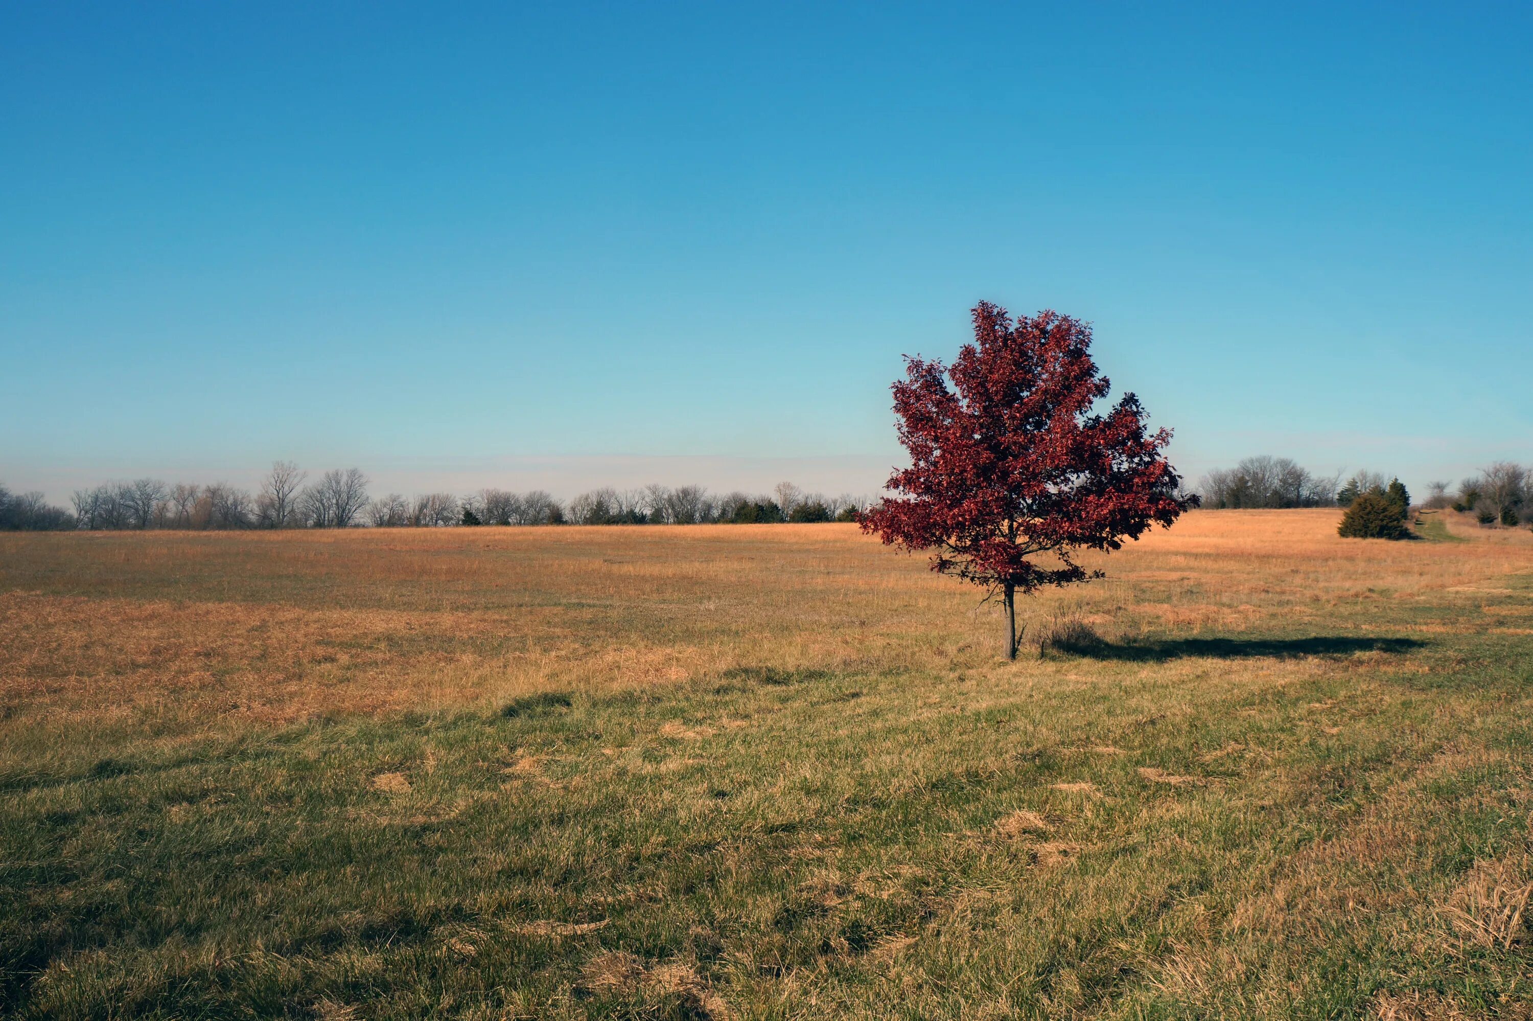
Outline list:
[[[1533,1016],[1533,533],[1335,521],[0,535],[0,1015]]]

